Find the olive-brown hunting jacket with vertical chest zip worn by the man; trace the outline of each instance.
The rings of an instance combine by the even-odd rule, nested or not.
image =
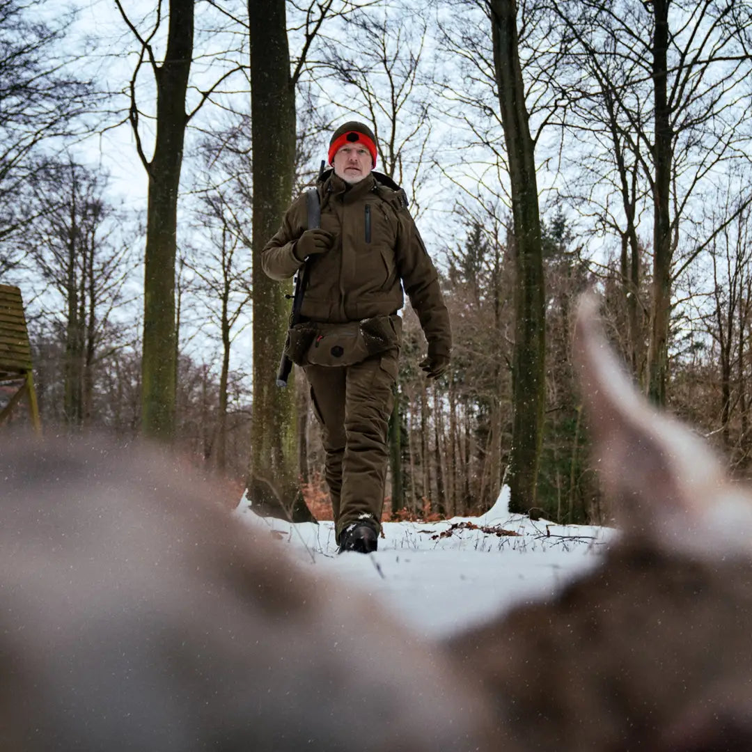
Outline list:
[[[449,314],[433,265],[402,193],[369,174],[347,186],[333,171],[317,184],[321,228],[335,236],[333,247],[309,262],[301,315],[326,323],[347,323],[395,314],[405,293],[417,313],[429,352],[449,355]],[[262,250],[262,268],[284,280],[298,271],[298,238],[308,229],[305,193],[287,210],[282,226]]]

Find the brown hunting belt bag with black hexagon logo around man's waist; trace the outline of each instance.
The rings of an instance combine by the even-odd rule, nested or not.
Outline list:
[[[353,365],[399,347],[401,335],[396,315],[344,324],[306,321],[287,332],[287,356],[297,365]]]

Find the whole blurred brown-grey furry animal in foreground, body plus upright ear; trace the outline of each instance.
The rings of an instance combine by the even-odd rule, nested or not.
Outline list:
[[[752,748],[749,493],[636,393],[592,301],[575,356],[620,540],[441,649],[151,447],[5,444],[0,748]]]

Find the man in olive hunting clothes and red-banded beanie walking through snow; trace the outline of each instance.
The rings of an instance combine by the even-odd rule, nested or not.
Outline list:
[[[309,226],[302,194],[262,251],[272,279],[302,273],[300,323],[290,329],[286,350],[305,370],[322,426],[340,553],[370,553],[378,545],[403,287],[428,341],[420,366],[429,378],[446,370],[451,350],[435,266],[404,191],[373,171],[376,156],[368,126],[340,126],[329,141],[332,168],[317,181],[320,226]]]

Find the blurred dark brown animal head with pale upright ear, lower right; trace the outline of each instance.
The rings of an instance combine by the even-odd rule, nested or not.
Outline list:
[[[554,602],[453,641],[499,749],[752,749],[752,499],[638,395],[581,304],[575,356],[620,541]]]

